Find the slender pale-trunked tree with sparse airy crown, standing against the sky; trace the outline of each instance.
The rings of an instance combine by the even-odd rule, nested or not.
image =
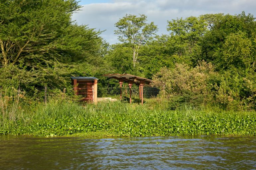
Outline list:
[[[118,28],[115,30],[115,34],[118,34],[118,39],[131,46],[133,50],[134,67],[137,62],[139,48],[158,30],[154,22],[150,24],[146,22],[146,15],[140,14],[140,17],[137,17],[136,15],[126,14],[125,17],[115,23],[115,27]]]

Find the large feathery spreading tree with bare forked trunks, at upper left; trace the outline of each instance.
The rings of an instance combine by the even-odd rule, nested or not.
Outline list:
[[[56,81],[74,62],[100,55],[100,31],[71,21],[76,0],[0,0],[0,6],[0,66],[16,70],[10,78],[20,70],[34,84]]]

